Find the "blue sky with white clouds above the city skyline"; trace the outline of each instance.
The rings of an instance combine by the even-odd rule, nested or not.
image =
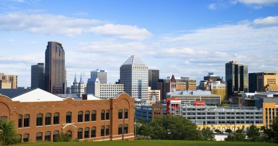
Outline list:
[[[0,1],[0,72],[30,87],[48,41],[63,44],[68,87],[98,68],[114,83],[134,54],[161,79],[225,77],[231,60],[278,71],[278,0]]]

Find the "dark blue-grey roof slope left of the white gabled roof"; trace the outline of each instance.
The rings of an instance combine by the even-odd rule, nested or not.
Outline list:
[[[19,96],[21,94],[27,93],[34,89],[0,89],[0,94],[8,96],[10,99]]]

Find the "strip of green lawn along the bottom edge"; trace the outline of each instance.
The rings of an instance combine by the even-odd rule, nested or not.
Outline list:
[[[223,145],[223,146],[248,146],[248,145],[258,145],[258,146],[271,146],[271,145],[278,145],[277,143],[266,143],[266,142],[227,142],[227,141],[181,141],[181,140],[135,140],[135,141],[99,141],[99,142],[39,142],[39,143],[25,143],[23,146],[36,146],[36,145],[76,145],[76,146],[86,146],[86,145],[92,145],[92,146],[125,146],[125,145],[131,145],[131,146],[217,146],[217,145]]]

